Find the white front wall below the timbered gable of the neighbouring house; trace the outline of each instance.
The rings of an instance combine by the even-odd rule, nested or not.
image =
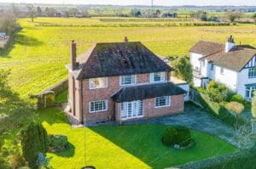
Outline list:
[[[237,89],[236,92],[238,94],[241,94],[243,98],[245,98],[246,93],[246,84],[252,84],[256,83],[256,78],[249,78],[248,77],[248,70],[249,69],[243,69],[238,73],[238,81],[237,81]]]

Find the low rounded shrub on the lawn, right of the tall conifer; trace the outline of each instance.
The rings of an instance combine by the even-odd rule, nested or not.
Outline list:
[[[61,134],[49,135],[49,151],[60,152],[69,148],[67,136]]]

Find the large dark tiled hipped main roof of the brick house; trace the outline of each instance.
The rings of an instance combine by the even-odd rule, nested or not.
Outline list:
[[[141,42],[96,43],[77,61],[79,64],[73,70],[77,79],[172,70]]]

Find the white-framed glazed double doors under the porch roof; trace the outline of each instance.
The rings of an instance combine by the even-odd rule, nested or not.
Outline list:
[[[138,104],[140,103],[140,104]],[[131,110],[134,109],[134,104],[137,105],[136,107],[136,112],[134,115],[134,112],[131,112],[131,116],[128,115],[128,104],[131,104]],[[140,106],[138,106],[140,105]],[[131,101],[131,102],[122,102],[120,103],[120,119],[121,120],[128,120],[128,119],[134,119],[134,118],[141,118],[144,115],[144,103],[143,103],[143,99],[140,100],[135,100],[135,101]],[[123,108],[123,109],[122,109]],[[142,112],[139,112],[140,108],[142,108]],[[142,113],[142,115],[138,115],[139,113]],[[122,117],[122,115],[125,114],[125,117]]]

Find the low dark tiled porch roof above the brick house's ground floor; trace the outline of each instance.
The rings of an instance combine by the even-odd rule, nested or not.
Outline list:
[[[126,86],[113,93],[115,102],[128,102],[138,99],[150,99],[160,96],[172,96],[187,93],[183,88],[172,82],[149,83],[136,86]]]

